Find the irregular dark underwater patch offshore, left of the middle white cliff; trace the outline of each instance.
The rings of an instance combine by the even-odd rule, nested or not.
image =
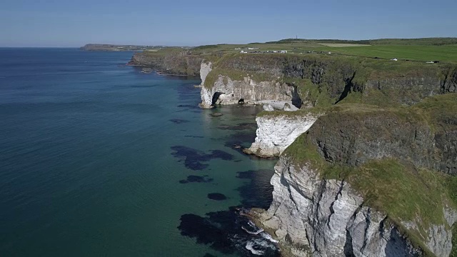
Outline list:
[[[208,164],[202,162],[210,161],[214,158],[221,158],[224,161],[233,160],[233,155],[221,150],[212,150],[211,153],[204,153],[187,146],[171,146],[171,150],[175,151],[171,154],[176,158],[184,158],[184,165],[186,168],[190,168],[194,171],[201,171],[208,167]]]

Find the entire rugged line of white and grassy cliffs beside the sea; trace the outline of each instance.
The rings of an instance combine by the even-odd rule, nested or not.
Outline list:
[[[457,66],[189,51],[131,64],[200,74],[202,108],[264,105],[244,151],[279,160],[270,208],[251,215],[284,256],[457,253]]]

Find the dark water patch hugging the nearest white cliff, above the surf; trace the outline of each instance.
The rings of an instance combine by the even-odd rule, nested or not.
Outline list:
[[[237,189],[243,198],[243,206],[263,209],[270,207],[273,201],[273,186],[270,183],[273,174],[274,171],[269,169],[237,172],[237,178],[250,179],[249,183]]]

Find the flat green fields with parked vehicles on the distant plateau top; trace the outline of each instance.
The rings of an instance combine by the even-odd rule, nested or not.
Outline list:
[[[367,44],[368,43],[368,44]],[[353,47],[357,46],[357,47]],[[192,51],[209,54],[214,52],[237,53],[245,51],[287,50],[288,54],[316,54],[360,56],[373,59],[398,59],[398,61],[440,61],[457,63],[457,39],[378,39],[373,41],[338,40],[286,40],[253,44],[219,44],[198,46]],[[328,54],[328,53],[331,54]],[[433,64],[431,64],[433,65]]]

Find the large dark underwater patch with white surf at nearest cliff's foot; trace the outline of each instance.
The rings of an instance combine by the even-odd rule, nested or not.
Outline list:
[[[196,238],[196,243],[209,245],[224,254],[239,256],[280,256],[278,248],[266,233],[246,233],[249,221],[238,214],[236,207],[229,211],[206,213],[206,216],[184,214],[178,228],[182,236]]]

